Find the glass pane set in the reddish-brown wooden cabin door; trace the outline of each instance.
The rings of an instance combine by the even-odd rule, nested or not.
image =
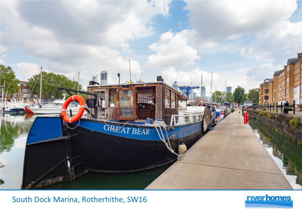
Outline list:
[[[119,90],[120,117],[133,117],[133,90]]]

